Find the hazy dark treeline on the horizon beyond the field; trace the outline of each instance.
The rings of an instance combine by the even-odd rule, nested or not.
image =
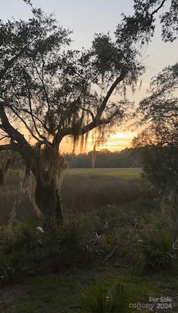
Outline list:
[[[65,154],[69,168],[91,168],[93,152],[79,155]],[[142,167],[136,148],[126,148],[122,151],[111,152],[107,149],[95,153],[95,168]]]

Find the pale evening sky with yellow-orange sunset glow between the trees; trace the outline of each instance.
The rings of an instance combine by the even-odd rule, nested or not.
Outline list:
[[[31,0],[34,7],[41,7],[46,13],[54,12],[58,22],[65,28],[73,30],[71,36],[73,48],[80,49],[83,46],[89,48],[95,33],[107,33],[110,31],[113,36],[118,22],[121,20],[121,13],[126,15],[133,13],[133,0]],[[0,0],[0,18],[27,20],[31,17],[31,8],[22,0]],[[178,41],[173,43],[163,43],[161,41],[161,29],[157,21],[156,32],[152,43],[145,51],[144,64],[147,67],[146,74],[141,78],[142,86],[137,88],[134,95],[128,93],[130,101],[135,105],[146,96],[151,78],[155,76],[163,67],[172,65],[178,61]],[[139,86],[139,83],[138,83]],[[115,134],[111,135],[108,142],[100,147],[111,151],[120,151],[131,145],[132,138],[139,132],[133,132],[123,126],[117,128]],[[92,142],[89,137],[87,151],[92,150]],[[65,139],[61,143],[61,151],[71,152],[72,145]],[[76,153],[80,148],[76,149]]]

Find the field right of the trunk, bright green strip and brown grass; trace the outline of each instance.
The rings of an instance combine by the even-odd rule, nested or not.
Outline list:
[[[140,174],[132,169],[68,169],[61,192],[64,205],[82,209],[136,200]]]

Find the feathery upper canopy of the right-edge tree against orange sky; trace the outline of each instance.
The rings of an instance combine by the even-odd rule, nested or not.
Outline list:
[[[165,67],[152,79],[149,93],[136,110],[138,123],[148,127],[134,140],[135,144],[178,148],[178,63]]]

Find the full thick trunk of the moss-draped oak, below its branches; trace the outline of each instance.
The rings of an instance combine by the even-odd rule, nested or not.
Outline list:
[[[52,148],[41,149],[35,154],[34,149],[20,154],[35,178],[34,202],[37,209],[44,215],[51,215],[57,224],[63,222],[63,206],[60,196],[60,185],[63,180],[64,158]],[[61,181],[59,180],[61,174]]]

